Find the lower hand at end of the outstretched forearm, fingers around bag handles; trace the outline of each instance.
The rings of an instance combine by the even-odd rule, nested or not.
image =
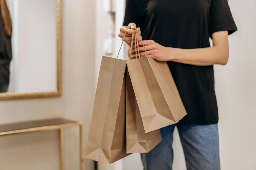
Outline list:
[[[172,50],[173,48],[170,47],[164,47],[158,43],[156,43],[153,40],[144,40],[143,41],[145,48],[143,47],[142,41],[140,41],[138,44],[139,46],[139,51],[140,51],[140,56],[143,54],[147,54],[150,58],[153,58],[158,61],[169,61],[171,59],[172,55]],[[137,48],[137,47],[136,47]],[[145,51],[146,49],[146,51]],[[137,54],[138,54],[138,48],[137,48]],[[131,58],[136,58],[135,55],[135,44],[133,45],[133,50],[132,50],[132,56]]]

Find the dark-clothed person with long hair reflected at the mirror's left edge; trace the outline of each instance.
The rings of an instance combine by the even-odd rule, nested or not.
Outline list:
[[[5,0],[0,0],[0,93],[7,92],[10,79],[11,17]]]

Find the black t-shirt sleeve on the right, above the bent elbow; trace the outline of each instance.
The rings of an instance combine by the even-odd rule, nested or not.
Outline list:
[[[228,31],[229,35],[237,27],[227,0],[212,0],[210,7],[210,36],[218,31]]]

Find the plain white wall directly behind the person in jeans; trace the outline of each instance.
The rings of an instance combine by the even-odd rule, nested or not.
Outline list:
[[[256,1],[230,0],[238,30],[229,37],[230,58],[226,66],[215,66],[215,91],[219,107],[221,168],[256,169]],[[173,170],[186,170],[177,131],[174,132]],[[124,158],[125,170],[142,170],[140,156]]]

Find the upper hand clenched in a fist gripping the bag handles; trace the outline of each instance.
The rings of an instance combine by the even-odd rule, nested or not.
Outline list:
[[[120,28],[120,33],[118,34],[118,36],[121,37],[122,39],[124,38],[124,41],[128,44],[128,46],[131,46],[132,32],[135,29],[137,29],[138,41],[140,41],[142,38],[141,31],[140,31],[140,28],[136,27],[135,23],[130,23],[128,26],[122,26]],[[126,35],[125,35],[125,32],[126,32]],[[133,43],[135,43],[135,41],[133,41]]]

